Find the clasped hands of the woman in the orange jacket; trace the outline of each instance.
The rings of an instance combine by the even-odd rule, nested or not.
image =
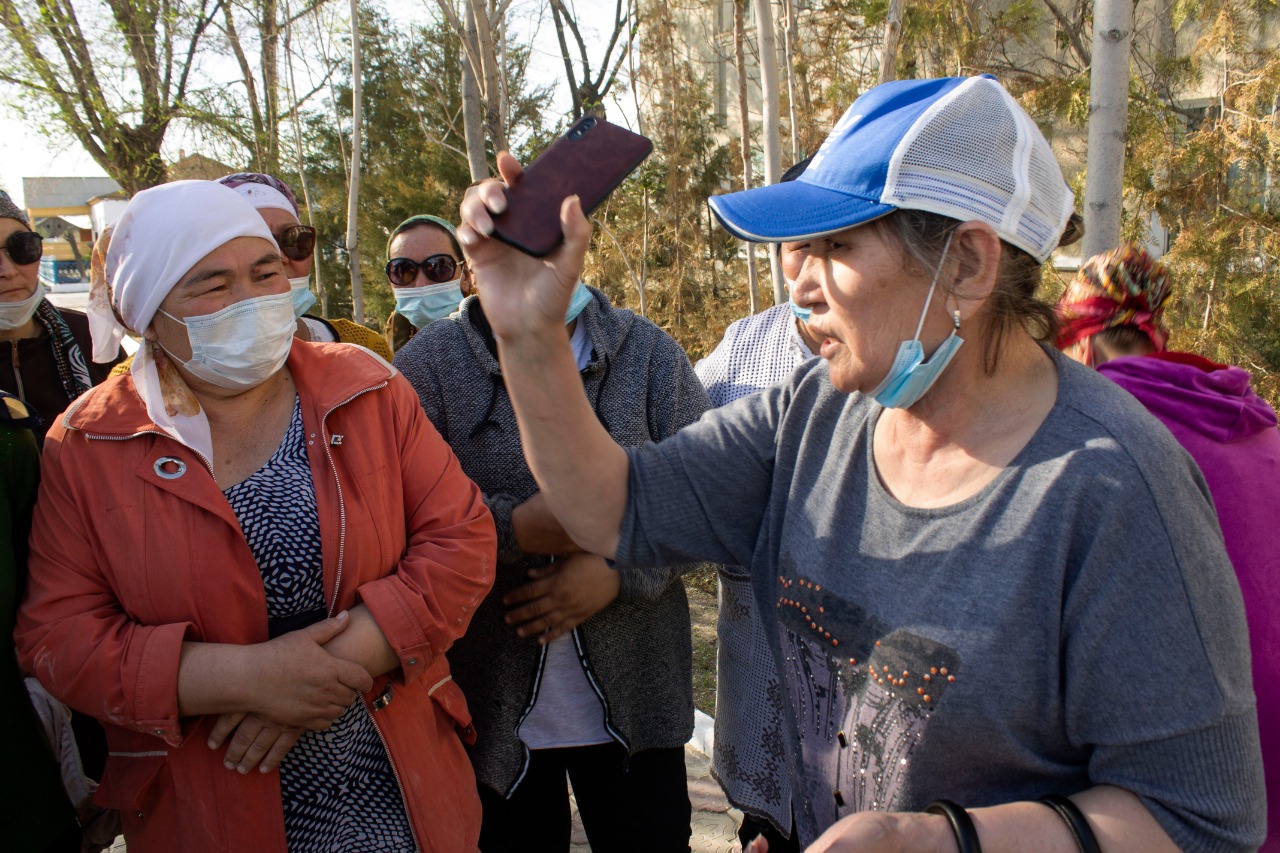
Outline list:
[[[264,774],[275,770],[303,731],[324,731],[360,693],[372,689],[374,679],[364,666],[324,648],[349,624],[351,616],[343,611],[243,647],[252,710],[221,715],[209,734],[210,749],[227,743],[223,763],[228,770],[247,774],[255,765]]]

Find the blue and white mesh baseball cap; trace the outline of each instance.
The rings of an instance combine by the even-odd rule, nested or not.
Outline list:
[[[909,209],[984,222],[1041,263],[1074,202],[1048,141],[988,76],[882,83],[854,101],[797,179],[709,201],[753,242],[826,237]]]

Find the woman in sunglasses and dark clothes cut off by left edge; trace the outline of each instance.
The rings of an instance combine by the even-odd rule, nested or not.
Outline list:
[[[0,192],[0,389],[26,402],[40,416],[36,441],[73,400],[106,379],[124,359],[118,351],[105,364],[84,357],[88,321],[79,311],[54,307],[40,286],[40,234],[27,215]]]

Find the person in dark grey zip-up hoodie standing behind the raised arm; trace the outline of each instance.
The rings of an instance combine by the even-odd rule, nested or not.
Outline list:
[[[653,323],[582,283],[564,319],[582,389],[620,444],[673,435],[709,407],[689,359]],[[684,567],[614,570],[547,511],[479,297],[421,329],[396,366],[498,528],[498,579],[449,651],[479,733],[481,850],[567,850],[566,772],[593,849],[687,850]]]

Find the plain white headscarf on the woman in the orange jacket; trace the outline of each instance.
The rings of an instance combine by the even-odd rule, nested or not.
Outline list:
[[[106,288],[90,295],[88,321],[93,360],[110,361],[119,351],[125,329],[141,334],[178,282],[219,246],[237,237],[257,237],[275,246],[275,238],[257,211],[234,190],[212,181],[175,181],[143,190],[129,200],[115,223],[106,248]],[[152,423],[212,465],[209,420],[195,398],[175,405],[165,401],[150,342],[137,352],[131,368],[134,387]],[[189,396],[189,391],[180,389]]]

